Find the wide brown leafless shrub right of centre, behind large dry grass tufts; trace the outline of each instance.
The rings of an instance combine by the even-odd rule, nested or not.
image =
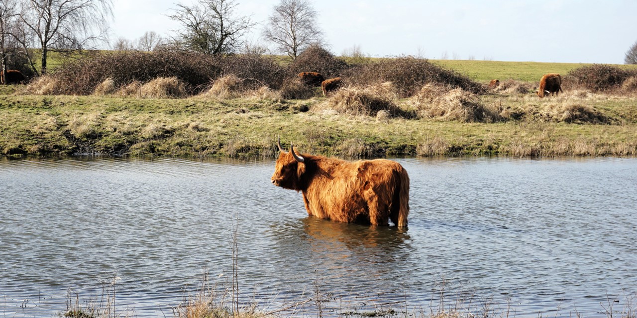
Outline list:
[[[443,69],[424,59],[397,57],[354,67],[345,78],[353,85],[373,85],[390,81],[401,97],[410,97],[427,83],[462,88],[471,93],[485,93],[484,85],[454,71]]]

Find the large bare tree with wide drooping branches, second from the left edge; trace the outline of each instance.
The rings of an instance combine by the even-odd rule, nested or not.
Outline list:
[[[3,0],[4,1],[4,0]],[[111,0],[20,0],[20,21],[42,50],[41,74],[47,73],[49,50],[82,50],[104,39]]]

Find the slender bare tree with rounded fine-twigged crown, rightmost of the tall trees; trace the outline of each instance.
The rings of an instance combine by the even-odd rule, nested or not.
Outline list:
[[[316,17],[308,0],[281,0],[269,17],[263,35],[275,43],[277,50],[296,59],[304,48],[322,39]]]

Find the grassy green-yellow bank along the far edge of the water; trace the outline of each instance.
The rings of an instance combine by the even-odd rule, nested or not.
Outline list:
[[[533,109],[570,98],[487,95],[482,102]],[[637,155],[637,102],[633,97],[596,96],[580,101],[612,118],[606,125],[555,122],[541,116],[497,123],[377,120],[313,110],[324,102],[322,97],[220,100],[0,95],[0,155],[275,158],[279,135],[282,142],[294,142],[303,153],[345,158]]]

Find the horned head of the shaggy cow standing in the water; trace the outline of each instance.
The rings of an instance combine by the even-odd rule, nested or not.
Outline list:
[[[282,188],[301,190],[301,176],[305,173],[305,159],[294,152],[292,144],[290,151],[285,151],[281,146],[281,140],[276,141],[279,148],[279,157],[276,160],[275,173],[272,175],[272,184]]]

